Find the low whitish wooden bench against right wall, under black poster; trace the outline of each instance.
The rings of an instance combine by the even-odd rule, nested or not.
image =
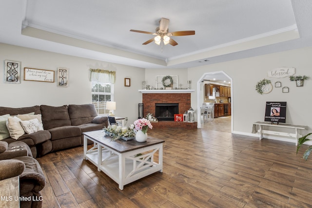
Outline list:
[[[259,126],[259,130],[257,130],[257,126]],[[264,130],[265,126],[274,127],[274,128],[281,128],[281,131],[273,131],[273,130]],[[294,133],[283,132],[283,129],[292,129]],[[291,124],[272,124],[271,122],[255,122],[253,123],[253,133],[259,132],[259,139],[263,139],[263,134],[271,134],[271,135],[278,135],[278,136],[285,136],[285,137],[292,137],[295,138],[296,146],[298,145],[298,138],[302,135],[299,134],[299,130],[308,129],[307,126],[298,126],[298,125],[291,125]]]

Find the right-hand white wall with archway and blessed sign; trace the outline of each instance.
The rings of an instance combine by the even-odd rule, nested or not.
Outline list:
[[[251,57],[194,67],[188,69],[188,77],[198,82],[207,72],[224,71],[233,78],[233,130],[234,133],[251,134],[252,124],[264,121],[265,103],[267,101],[286,101],[286,122],[294,125],[308,126],[312,130],[312,48],[302,48],[258,57]],[[303,87],[296,87],[289,77],[270,78],[267,71],[277,67],[295,67],[295,75],[306,75],[310,79],[304,81]],[[255,91],[255,85],[263,78],[270,79],[273,91],[260,95]],[[282,88],[275,88],[274,82],[281,81],[282,87],[289,87],[289,93],[282,93]],[[197,90],[196,88],[194,88]],[[197,92],[192,93],[192,107],[197,110]]]

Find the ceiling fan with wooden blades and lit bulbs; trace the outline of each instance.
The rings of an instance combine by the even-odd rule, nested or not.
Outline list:
[[[141,31],[141,30],[130,30],[130,31],[137,32],[137,33],[151,34],[151,35],[156,36],[142,43],[142,45],[146,45],[154,41],[157,45],[160,45],[160,43],[167,45],[169,43],[172,46],[176,46],[177,42],[174,39],[170,38],[171,36],[195,35],[194,30],[169,32],[168,26],[169,26],[169,19],[161,18],[159,20],[159,27],[156,28],[156,33],[146,32],[146,31]]]

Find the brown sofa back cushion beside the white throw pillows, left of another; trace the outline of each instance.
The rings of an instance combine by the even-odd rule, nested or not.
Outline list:
[[[43,129],[49,130],[56,127],[71,125],[67,105],[59,107],[41,105],[40,109]]]

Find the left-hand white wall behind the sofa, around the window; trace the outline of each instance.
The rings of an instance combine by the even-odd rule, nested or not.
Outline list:
[[[21,62],[21,83],[0,82],[0,106],[27,107],[34,105],[60,106],[65,104],[91,103],[91,82],[89,69],[99,68],[116,71],[114,100],[117,103],[116,116],[128,117],[128,124],[137,119],[138,106],[142,95],[137,91],[145,77],[142,68],[50,53],[30,48],[0,43],[0,78],[4,80],[4,60]],[[69,69],[69,86],[57,87],[57,82],[24,81],[24,67],[55,71],[64,67]],[[124,78],[131,78],[131,87],[124,87]]]

